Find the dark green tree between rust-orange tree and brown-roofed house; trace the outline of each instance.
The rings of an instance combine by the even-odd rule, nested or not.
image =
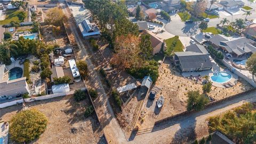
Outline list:
[[[150,35],[141,35],[140,38],[140,56],[142,59],[150,59],[153,54],[153,47],[151,46],[151,38]]]

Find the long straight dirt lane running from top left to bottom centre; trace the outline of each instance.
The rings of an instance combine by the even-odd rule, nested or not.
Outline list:
[[[70,15],[68,7],[66,7],[66,3],[63,1],[61,1],[60,3],[63,12],[66,15]],[[127,141],[125,139],[124,133],[117,122],[113,109],[110,106],[107,94],[103,89],[98,73],[94,69],[90,56],[86,51],[86,48],[89,47],[89,44],[87,43],[87,41],[82,39],[82,37],[78,33],[76,23],[73,21],[73,19],[69,20],[69,26],[73,35],[75,36],[79,49],[82,50],[82,54],[77,59],[82,59],[87,62],[90,82],[91,84],[93,83],[93,87],[98,91],[99,94],[98,98],[94,101],[94,105],[99,115],[99,119],[103,127],[105,136],[107,140],[109,140],[109,143],[126,143]],[[83,41],[86,45],[83,43]]]

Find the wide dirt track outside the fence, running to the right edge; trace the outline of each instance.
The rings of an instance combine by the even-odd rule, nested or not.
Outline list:
[[[188,143],[208,134],[206,119],[241,106],[244,102],[255,102],[256,90],[234,99],[223,101],[191,115],[174,118],[150,129],[139,130],[129,143]]]

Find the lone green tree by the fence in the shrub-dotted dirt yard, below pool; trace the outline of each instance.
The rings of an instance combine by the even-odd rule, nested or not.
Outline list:
[[[192,109],[195,109],[197,111],[202,110],[204,109],[205,104],[209,102],[209,99],[207,99],[204,94],[199,94],[199,91],[189,91],[187,94],[188,111]]]

